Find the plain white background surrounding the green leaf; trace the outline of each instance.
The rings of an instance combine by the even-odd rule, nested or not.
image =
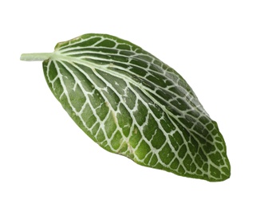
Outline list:
[[[255,1],[2,1],[0,206],[256,206]],[[109,33],[175,68],[219,123],[225,182],[138,166],[93,143],[49,91],[59,41]]]

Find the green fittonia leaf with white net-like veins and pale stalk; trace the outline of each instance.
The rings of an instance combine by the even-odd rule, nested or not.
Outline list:
[[[182,76],[139,46],[89,33],[21,60],[43,61],[53,95],[105,150],[185,177],[230,177],[217,123]]]

